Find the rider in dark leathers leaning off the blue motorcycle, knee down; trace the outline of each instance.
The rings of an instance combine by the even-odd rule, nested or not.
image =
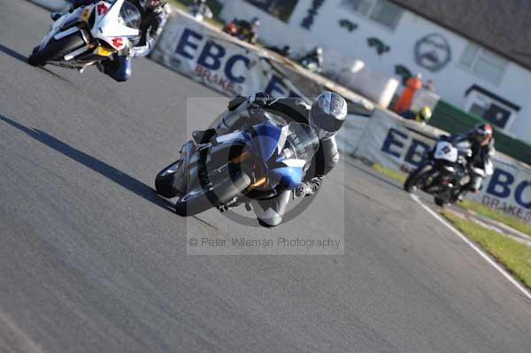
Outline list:
[[[250,98],[236,96],[228,104],[227,114],[211,134],[228,134],[242,127],[245,119],[252,119],[247,113],[251,107],[272,111],[289,122],[309,124],[318,133],[319,150],[312,159],[304,181],[296,188],[295,196],[312,196],[317,193],[327,173],[330,173],[339,162],[335,134],[346,118],[346,101],[342,96],[332,92],[320,94],[312,106],[300,98],[270,99],[262,93]],[[257,201],[254,211],[259,224],[266,227],[281,224],[291,197],[291,190],[277,190],[277,196]]]

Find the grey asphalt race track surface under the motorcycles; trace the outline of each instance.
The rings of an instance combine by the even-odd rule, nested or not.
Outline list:
[[[147,59],[127,84],[31,67],[48,13],[0,8],[0,351],[531,351],[527,298],[345,158],[304,214],[253,228],[344,226],[345,255],[186,255],[189,233],[245,231],[218,211],[181,219],[151,189],[187,98],[219,95]],[[194,102],[206,124],[225,101]]]

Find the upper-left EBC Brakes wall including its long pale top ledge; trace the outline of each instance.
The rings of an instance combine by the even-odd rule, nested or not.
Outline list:
[[[299,96],[310,103],[323,90],[333,90],[361,109],[373,109],[366,98],[337,83],[198,22],[185,12],[172,12],[150,57],[227,96],[266,92]]]

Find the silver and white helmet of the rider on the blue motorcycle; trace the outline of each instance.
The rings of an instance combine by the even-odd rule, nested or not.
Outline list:
[[[337,93],[323,92],[315,99],[308,120],[319,139],[327,140],[339,131],[346,117],[347,101]]]

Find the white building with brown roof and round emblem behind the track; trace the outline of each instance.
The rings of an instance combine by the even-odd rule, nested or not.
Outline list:
[[[396,78],[422,73],[444,100],[531,142],[526,0],[228,0],[221,15],[258,17],[268,44],[298,52],[320,45]]]

